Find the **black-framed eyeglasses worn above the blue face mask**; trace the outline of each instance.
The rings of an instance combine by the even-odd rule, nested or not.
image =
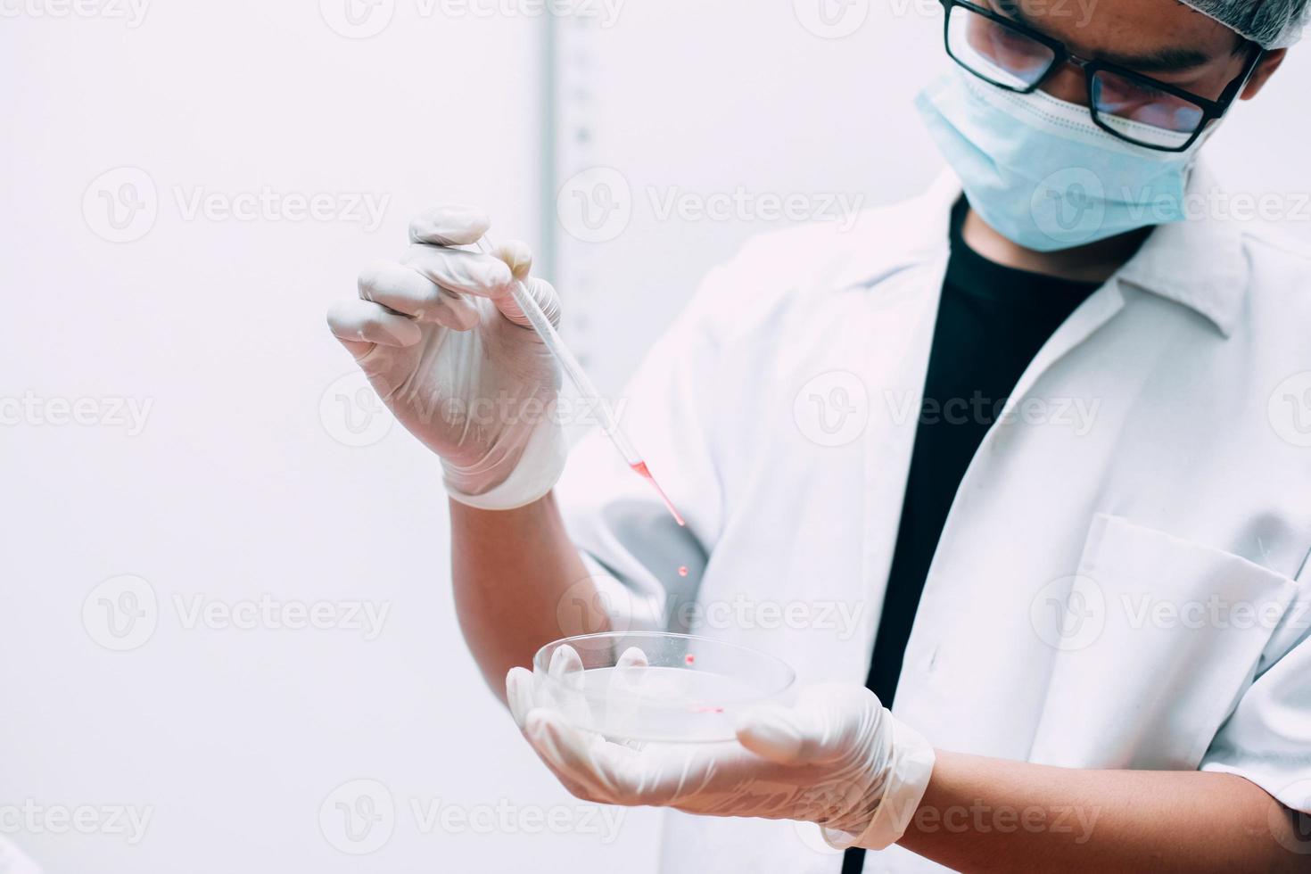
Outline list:
[[[1196,143],[1228,111],[1264,55],[1253,43],[1243,73],[1219,100],[1209,100],[1105,60],[1079,58],[1061,41],[969,0],[941,4],[947,54],[957,64],[1019,94],[1036,92],[1061,67],[1075,64],[1088,83],[1088,110],[1097,127],[1159,152],[1184,152]]]

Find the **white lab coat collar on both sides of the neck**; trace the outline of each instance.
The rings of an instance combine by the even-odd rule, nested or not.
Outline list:
[[[1188,183],[1192,218],[1158,227],[1112,282],[1133,286],[1197,311],[1228,337],[1247,294],[1248,263],[1243,237],[1232,223],[1213,214],[1214,176],[1198,164]],[[857,225],[857,245],[836,273],[839,287],[871,286],[898,270],[945,257],[950,246],[952,204],[961,182],[944,172],[889,221],[882,210]]]

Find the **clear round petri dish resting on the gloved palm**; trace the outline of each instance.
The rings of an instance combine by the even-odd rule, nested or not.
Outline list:
[[[561,647],[582,663],[552,675]],[[631,647],[646,667],[619,666]],[[532,659],[539,689],[578,729],[616,740],[733,740],[746,708],[781,698],[796,680],[783,659],[737,643],[669,632],[607,632],[547,643]]]

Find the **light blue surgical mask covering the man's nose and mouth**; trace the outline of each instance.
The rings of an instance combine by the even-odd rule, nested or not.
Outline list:
[[[1071,249],[1186,216],[1188,176],[1206,136],[1186,152],[1154,152],[1097,127],[1086,106],[965,71],[915,104],[970,207],[1027,249]]]

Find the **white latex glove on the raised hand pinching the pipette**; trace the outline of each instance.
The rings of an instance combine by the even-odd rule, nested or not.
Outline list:
[[[405,256],[364,269],[359,299],[333,307],[328,325],[392,414],[442,457],[451,497],[511,510],[551,490],[566,447],[556,360],[510,297],[528,248],[502,244],[497,257],[452,248],[489,227],[465,207],[429,210],[410,221]],[[524,283],[558,324],[551,284]]]

